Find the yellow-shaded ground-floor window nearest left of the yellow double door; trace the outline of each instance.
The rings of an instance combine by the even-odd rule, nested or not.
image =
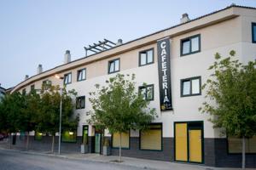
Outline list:
[[[140,132],[141,150],[162,150],[162,124],[151,124]]]

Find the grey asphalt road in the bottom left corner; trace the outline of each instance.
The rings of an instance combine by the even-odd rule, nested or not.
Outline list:
[[[0,150],[0,170],[139,170],[113,163],[78,161],[54,156],[38,156],[12,150]]]

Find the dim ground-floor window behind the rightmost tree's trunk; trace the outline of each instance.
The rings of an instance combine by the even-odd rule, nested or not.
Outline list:
[[[241,143],[242,139],[236,137],[229,137],[229,153],[241,153]],[[251,139],[246,139],[246,153],[256,153],[256,136],[253,136]]]

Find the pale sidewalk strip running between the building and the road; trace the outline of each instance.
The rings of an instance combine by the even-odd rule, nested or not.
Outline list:
[[[0,144],[0,150],[9,150],[6,147],[3,147]],[[80,160],[80,161],[98,161],[98,162],[105,162],[105,163],[114,163],[114,164],[121,164],[124,166],[130,167],[140,167],[143,169],[161,169],[161,170],[238,170],[241,168],[220,168],[220,167],[206,167],[204,165],[198,164],[191,164],[191,163],[177,163],[177,162],[170,162],[170,161],[152,161],[146,159],[138,159],[138,158],[131,158],[131,157],[122,157],[121,163],[116,162],[119,160],[119,156],[102,156],[99,154],[79,154],[79,153],[65,153],[62,152],[61,155],[51,154],[49,151],[43,150],[28,150],[25,151],[24,149],[12,149],[13,151],[18,151],[25,154],[31,155],[39,155],[39,156],[55,156],[61,157],[65,159],[71,160]],[[251,169],[253,170],[253,169]]]

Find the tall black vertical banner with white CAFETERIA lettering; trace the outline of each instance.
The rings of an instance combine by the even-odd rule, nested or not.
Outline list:
[[[172,110],[171,62],[169,37],[157,42],[160,110]]]

